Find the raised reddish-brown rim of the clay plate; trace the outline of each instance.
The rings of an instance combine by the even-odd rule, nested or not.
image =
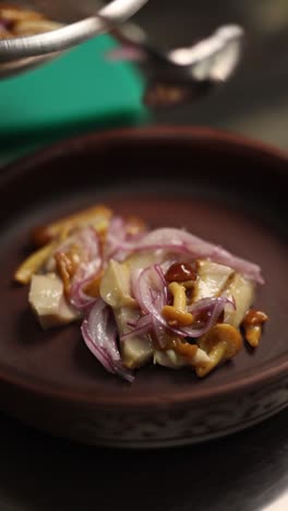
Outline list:
[[[288,153],[286,154],[283,150],[278,150],[268,144],[248,139],[245,136],[231,133],[229,131],[203,128],[203,127],[180,127],[180,126],[153,126],[153,127],[141,127],[141,128],[124,128],[107,130],[101,132],[92,132],[80,136],[73,136],[63,141],[57,142],[48,147],[38,150],[33,155],[25,156],[14,163],[10,163],[8,166],[1,169],[0,175],[0,187],[9,183],[13,180],[15,175],[28,171],[31,167],[35,167],[43,162],[52,161],[63,155],[73,154],[73,152],[81,152],[83,147],[91,146],[92,144],[110,144],[116,141],[130,143],[131,141],[143,141],[143,143],[157,143],[159,141],[202,141],[205,143],[220,143],[227,147],[237,147],[240,151],[244,151],[248,154],[253,154],[256,157],[268,158],[272,162],[278,164],[277,171],[284,173],[286,178],[288,173],[285,170],[285,166],[288,164]],[[260,373],[243,376],[238,382],[229,381],[221,385],[217,385],[215,389],[201,389],[191,395],[189,392],[182,393],[177,396],[170,396],[169,400],[164,400],[155,395],[132,397],[125,400],[121,396],[111,396],[105,399],[91,392],[69,392],[65,390],[53,390],[47,384],[38,382],[37,384],[31,384],[25,376],[9,375],[0,366],[0,381],[1,383],[17,388],[20,391],[28,392],[37,397],[53,399],[59,402],[69,402],[76,404],[93,405],[95,407],[105,407],[109,404],[111,408],[125,408],[125,409],[154,409],[159,405],[166,407],[175,407],[177,405],[199,405],[203,406],[207,401],[212,400],[228,400],[231,395],[244,394],[259,389],[261,385],[272,384],[279,380],[283,380],[288,373],[288,354],[287,357],[281,355],[277,357],[281,363],[277,366],[268,367],[262,370]],[[276,360],[277,360],[276,359]],[[109,376],[108,376],[109,377]],[[125,383],[123,383],[125,384]]]

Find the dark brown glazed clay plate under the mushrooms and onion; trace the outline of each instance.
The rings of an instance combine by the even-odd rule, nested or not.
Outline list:
[[[200,129],[91,134],[2,170],[0,406],[53,435],[119,447],[220,437],[288,403],[287,159]],[[259,263],[256,305],[269,316],[261,346],[199,380],[146,367],[131,385],[92,356],[79,325],[43,332],[12,275],[29,230],[94,203],[185,227]]]

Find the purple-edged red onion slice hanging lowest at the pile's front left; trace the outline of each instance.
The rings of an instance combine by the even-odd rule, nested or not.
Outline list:
[[[98,298],[81,326],[86,346],[105,369],[132,382],[133,375],[123,366],[117,347],[117,326],[111,309]]]

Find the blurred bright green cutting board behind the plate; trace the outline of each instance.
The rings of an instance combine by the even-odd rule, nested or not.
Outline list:
[[[73,134],[145,122],[143,81],[109,62],[100,36],[34,71],[0,81],[0,163]]]

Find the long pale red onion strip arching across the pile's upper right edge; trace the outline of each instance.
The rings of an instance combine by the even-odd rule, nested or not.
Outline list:
[[[209,259],[242,273],[247,278],[263,284],[259,265],[232,255],[221,247],[204,241],[185,230],[163,228],[143,236],[136,242],[119,243],[116,259],[124,259],[129,253],[142,250],[167,250],[172,253],[191,254],[194,259]]]

